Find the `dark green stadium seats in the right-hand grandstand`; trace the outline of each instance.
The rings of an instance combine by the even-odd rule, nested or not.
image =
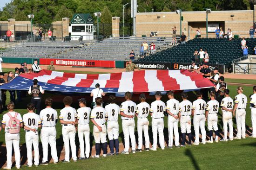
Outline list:
[[[199,51],[202,48],[203,50],[208,50],[209,63],[219,63],[229,66],[234,59],[243,57],[241,40],[241,38],[232,39],[232,41],[216,38],[194,38],[184,45],[179,44],[170,49],[162,50],[143,59],[139,59],[139,61],[189,63],[194,61],[194,51]],[[254,54],[253,49],[256,45],[256,39],[246,38],[246,42],[249,54]]]

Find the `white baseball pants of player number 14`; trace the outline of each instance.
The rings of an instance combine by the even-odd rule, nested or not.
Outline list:
[[[205,131],[205,115],[204,114],[199,114],[199,115],[194,115],[193,118],[193,124],[194,124],[194,129],[195,129],[195,143],[199,143],[199,129],[201,129],[201,134],[202,134],[202,143],[205,143],[206,139],[206,131]]]

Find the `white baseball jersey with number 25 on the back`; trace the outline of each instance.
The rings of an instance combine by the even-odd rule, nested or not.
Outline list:
[[[103,125],[106,122],[105,118],[108,118],[108,114],[103,107],[95,107],[90,118],[94,119],[98,125]]]

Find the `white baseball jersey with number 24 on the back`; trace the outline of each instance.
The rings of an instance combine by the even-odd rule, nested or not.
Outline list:
[[[56,126],[56,120],[58,119],[57,111],[52,107],[46,107],[40,111],[40,119],[43,127]]]

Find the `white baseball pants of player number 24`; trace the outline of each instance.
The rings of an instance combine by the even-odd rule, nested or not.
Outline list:
[[[43,162],[48,161],[48,145],[51,146],[51,155],[54,162],[58,162],[57,149],[56,149],[56,128],[42,127],[41,129],[41,142],[43,147]]]

